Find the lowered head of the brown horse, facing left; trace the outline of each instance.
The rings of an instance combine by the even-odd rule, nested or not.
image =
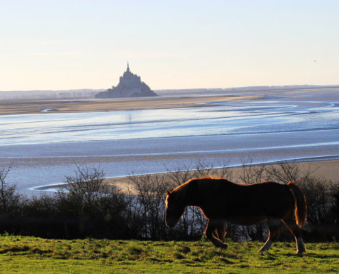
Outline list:
[[[165,206],[165,223],[168,227],[174,227],[182,214],[185,211],[185,205],[180,199],[178,199],[178,193],[168,192],[166,196]]]

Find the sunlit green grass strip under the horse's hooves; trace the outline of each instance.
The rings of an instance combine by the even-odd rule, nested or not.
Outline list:
[[[47,240],[0,236],[0,273],[339,273],[339,244]]]

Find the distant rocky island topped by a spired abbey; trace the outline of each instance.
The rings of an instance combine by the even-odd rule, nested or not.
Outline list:
[[[157,96],[147,84],[141,82],[140,76],[129,71],[127,62],[127,70],[120,77],[118,86],[108,88],[103,92],[99,92],[95,97],[97,98],[116,98],[116,97],[147,97]]]

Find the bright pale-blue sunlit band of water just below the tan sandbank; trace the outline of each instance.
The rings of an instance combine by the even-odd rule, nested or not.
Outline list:
[[[223,103],[169,110],[2,116],[0,145],[83,142],[223,134],[288,132],[338,127],[339,111],[312,103]]]

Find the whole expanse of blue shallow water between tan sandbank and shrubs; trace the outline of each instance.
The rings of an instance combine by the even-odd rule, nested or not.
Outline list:
[[[0,165],[18,188],[64,181],[75,164],[108,177],[156,173],[197,159],[214,166],[339,158],[339,94],[271,92],[195,108],[0,116]]]

